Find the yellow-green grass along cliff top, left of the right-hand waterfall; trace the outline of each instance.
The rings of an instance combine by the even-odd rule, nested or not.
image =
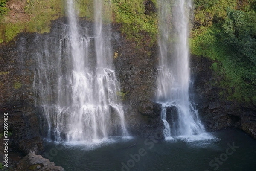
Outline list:
[[[93,0],[74,0],[79,17],[93,20]],[[145,14],[145,0],[104,0],[103,22],[121,23],[121,31],[137,43],[143,40],[143,32],[148,32],[152,42],[157,37],[157,12]],[[156,0],[152,0],[156,6]],[[49,32],[51,20],[64,16],[64,0],[26,0],[24,14],[29,20],[11,22],[6,17],[0,19],[0,43],[9,42],[20,32]],[[6,4],[4,8],[7,8]],[[10,11],[10,10],[9,10]],[[15,14],[16,15],[16,14]]]

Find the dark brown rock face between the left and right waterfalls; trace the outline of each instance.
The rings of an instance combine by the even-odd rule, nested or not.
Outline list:
[[[150,47],[145,43],[138,49],[137,44],[122,36],[116,26],[113,26],[113,31],[119,35],[118,41],[113,43],[114,63],[124,94],[122,101],[128,130],[148,137],[163,130],[159,106],[152,102],[157,79],[157,44]],[[150,40],[146,35],[144,41]]]

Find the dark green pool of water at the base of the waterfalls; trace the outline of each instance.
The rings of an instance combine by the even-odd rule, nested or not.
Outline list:
[[[256,171],[256,140],[233,129],[212,135],[216,138],[193,142],[155,138],[115,138],[98,145],[48,142],[43,156],[65,171]]]

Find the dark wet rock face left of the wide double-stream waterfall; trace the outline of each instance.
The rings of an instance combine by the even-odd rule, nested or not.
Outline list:
[[[0,112],[8,113],[10,151],[18,150],[21,141],[39,136],[32,86],[35,59],[29,55],[29,50],[33,49],[30,41],[32,36],[23,34],[8,45],[0,44]],[[0,115],[0,123],[3,123],[3,115]]]

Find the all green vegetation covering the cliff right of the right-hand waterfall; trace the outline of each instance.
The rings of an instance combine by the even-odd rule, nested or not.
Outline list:
[[[253,0],[195,0],[191,52],[218,60],[211,69],[222,77],[222,81],[213,84],[222,87],[220,94],[228,100],[256,103],[256,13],[253,4]]]

